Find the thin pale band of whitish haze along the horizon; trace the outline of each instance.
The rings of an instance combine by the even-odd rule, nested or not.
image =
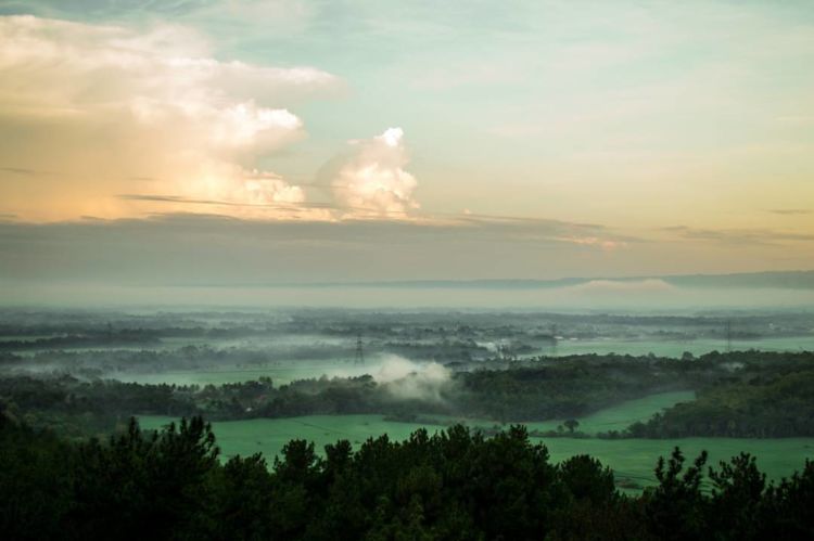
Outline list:
[[[536,311],[697,312],[811,310],[814,289],[673,286],[662,280],[586,281],[559,287],[320,285],[120,286],[24,285],[0,287],[4,306],[485,309]]]

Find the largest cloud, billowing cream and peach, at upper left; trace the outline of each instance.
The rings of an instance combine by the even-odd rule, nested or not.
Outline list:
[[[183,27],[0,17],[0,163],[14,164],[0,173],[59,171],[34,202],[0,193],[35,218],[64,218],[72,204],[126,214],[111,196],[132,178],[155,193],[298,203],[302,188],[257,164],[304,136],[288,105],[336,86],[313,67],[218,60]]]

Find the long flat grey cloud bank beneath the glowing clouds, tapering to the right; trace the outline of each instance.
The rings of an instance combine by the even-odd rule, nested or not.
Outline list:
[[[205,198],[131,197],[149,197],[144,204],[168,208],[186,205],[199,212],[232,208]],[[275,204],[275,210],[284,211],[284,204]],[[552,220],[255,220],[236,218],[239,214],[175,214],[46,224],[2,222],[0,254],[4,265],[0,266],[0,281],[250,286],[525,279],[578,275],[586,266],[612,272],[628,261],[600,247],[559,241],[562,236],[597,234],[596,229]],[[614,239],[608,231],[603,236]],[[631,249],[638,249],[637,245]]]

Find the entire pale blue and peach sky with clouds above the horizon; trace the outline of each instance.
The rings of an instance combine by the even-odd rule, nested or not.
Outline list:
[[[809,1],[0,0],[0,286],[814,269]]]

